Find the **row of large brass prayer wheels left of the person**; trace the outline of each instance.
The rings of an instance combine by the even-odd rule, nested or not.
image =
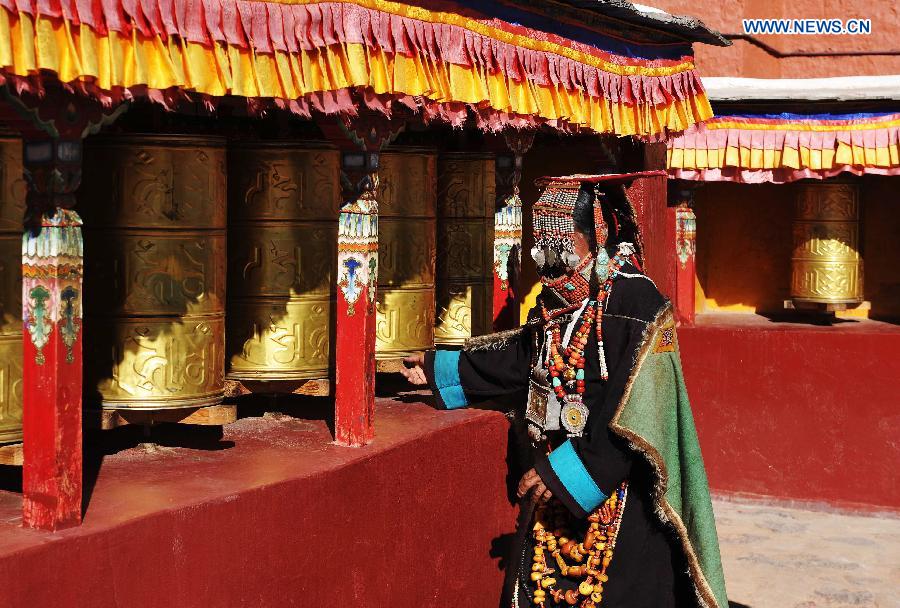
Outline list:
[[[0,141],[0,153],[9,442],[21,438],[25,187],[21,142]],[[337,150],[122,135],[87,140],[83,169],[86,407],[202,407],[221,402],[226,378],[330,375]],[[382,154],[379,178],[376,356],[489,331],[493,159],[398,148]]]

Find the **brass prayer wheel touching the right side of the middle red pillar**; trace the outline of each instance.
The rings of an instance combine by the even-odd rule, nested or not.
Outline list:
[[[433,152],[404,149],[380,158],[376,359],[434,345],[436,174]]]

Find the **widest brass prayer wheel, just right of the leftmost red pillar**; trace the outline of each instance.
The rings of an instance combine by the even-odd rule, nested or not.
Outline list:
[[[164,410],[225,385],[225,140],[88,139],[85,401]]]

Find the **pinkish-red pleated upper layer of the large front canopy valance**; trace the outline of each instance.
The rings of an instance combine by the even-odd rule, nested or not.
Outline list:
[[[10,12],[65,18],[101,35],[109,30],[180,37],[211,45],[252,47],[259,53],[311,51],[358,43],[404,56],[477,66],[516,81],[559,85],[613,103],[654,106],[703,92],[693,70],[670,76],[622,76],[550,52],[533,51],[476,34],[371,10],[352,3],[288,5],[247,0],[0,0]],[[612,58],[615,60],[615,56]],[[634,63],[623,58],[622,63]],[[658,63],[658,62],[648,62]]]

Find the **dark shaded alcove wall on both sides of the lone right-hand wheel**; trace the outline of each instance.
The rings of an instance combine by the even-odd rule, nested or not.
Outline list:
[[[861,253],[868,316],[900,320],[896,178],[860,180]],[[790,298],[792,184],[707,183],[697,189],[698,312],[784,315]],[[863,315],[863,311],[860,311]]]

